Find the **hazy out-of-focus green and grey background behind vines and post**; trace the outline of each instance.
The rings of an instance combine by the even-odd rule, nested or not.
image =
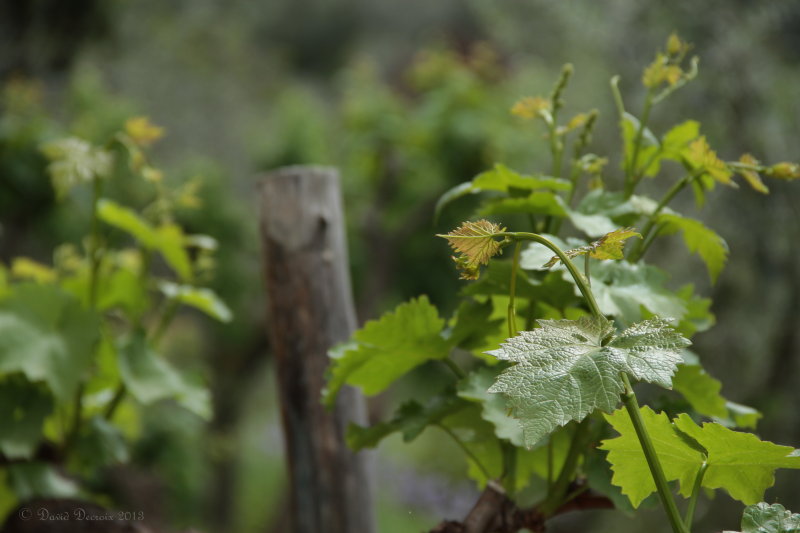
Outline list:
[[[134,115],[164,126],[153,158],[167,180],[202,182],[202,209],[181,221],[221,242],[214,289],[235,320],[187,314],[167,339],[170,357],[211,384],[213,420],[169,408],[147,417],[132,464],[115,473],[121,508],[145,510],[164,531],[284,530],[259,173],[340,169],[360,321],[422,293],[452,310],[463,282],[433,234],[467,211],[434,225],[438,196],[497,161],[547,167],[541,131],[508,110],[521,96],[547,94],[565,62],[575,66],[567,107],[598,108],[595,150],[614,150],[608,80],[619,74],[638,109],[641,70],[672,31],[694,43],[700,74],[657,110],[653,128],[693,118],[723,156],[800,159],[797,0],[0,2],[0,260],[49,262],[56,243],[84,231],[70,204],[56,202],[39,145],[65,134],[101,142]],[[718,325],[695,348],[725,395],[764,413],[762,438],[798,445],[800,189],[771,188],[715,191],[697,215],[730,245],[716,285],[679,248],[651,260],[676,286],[694,282],[713,297]],[[695,209],[690,195],[681,201]],[[381,406],[378,398],[371,408]],[[474,501],[463,459],[430,433],[410,446],[389,439],[375,454],[383,533],[462,518]],[[779,472],[768,496],[797,512],[793,474]],[[737,529],[740,507],[720,494],[698,515],[698,530]],[[552,530],[645,527],[667,530],[660,509],[635,520],[583,513]]]

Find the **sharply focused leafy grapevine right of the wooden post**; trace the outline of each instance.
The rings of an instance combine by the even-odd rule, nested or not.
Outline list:
[[[447,386],[425,391],[427,401],[409,398],[387,421],[351,426],[354,449],[395,433],[410,442],[438,428],[464,451],[479,484],[495,480],[512,499],[523,487],[538,487],[545,496],[535,512],[544,517],[575,498],[569,491],[576,487],[621,508],[636,508],[657,491],[674,531],[683,533],[701,489],[754,504],[775,469],[800,465],[796,450],[734,430],[755,428],[760,413],[727,400],[687,349],[714,324],[710,299],[693,285],[674,287],[665,269],[644,259],[654,242],[679,234],[716,282],[728,259],[724,239],[670,203],[691,189],[702,207],[717,184],[737,187],[737,175],[766,194],[762,176],[797,174],[791,163],[765,165],[749,154],[724,159],[694,120],[660,136],[649,129],[651,111],[697,75],[690,49],[669,37],[644,70],[638,116],[626,110],[612,79],[619,157],[590,151],[596,111],[560,120],[571,65],[548,96],[513,105],[524,127],[544,129],[552,165],[529,173],[495,164],[441,196],[436,217],[471,198],[476,219],[439,235],[456,252],[461,278],[472,281],[457,312],[446,321],[423,296],[331,351],[328,405],[344,385],[378,394],[422,365],[452,375]],[[620,168],[610,170],[609,160]],[[683,177],[671,178],[669,166]],[[637,194],[645,178],[664,183],[664,195]],[[525,231],[506,229],[515,227]],[[513,253],[502,254],[506,247]],[[666,405],[678,414],[639,408],[638,382],[670,390]],[[713,421],[698,423],[703,419]],[[609,428],[620,436],[607,438]],[[673,481],[690,498],[685,518],[677,514]],[[748,508],[748,524],[771,520],[764,517],[773,512]],[[784,526],[775,527],[766,530]]]

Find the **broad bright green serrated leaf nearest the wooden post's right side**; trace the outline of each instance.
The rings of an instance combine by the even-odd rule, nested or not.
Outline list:
[[[345,384],[372,396],[412,368],[444,359],[450,343],[442,336],[444,320],[426,296],[400,304],[378,320],[370,320],[340,351],[331,350],[330,378],[323,401],[333,405]]]

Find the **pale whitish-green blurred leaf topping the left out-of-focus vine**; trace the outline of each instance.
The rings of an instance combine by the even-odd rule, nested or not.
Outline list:
[[[76,137],[47,143],[42,152],[50,161],[47,171],[59,198],[76,185],[107,177],[114,161],[111,152]]]

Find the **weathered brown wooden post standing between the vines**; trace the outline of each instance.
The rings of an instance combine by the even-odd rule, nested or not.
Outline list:
[[[364,400],[342,390],[320,403],[327,351],[356,327],[339,175],[294,166],[261,182],[261,240],[270,346],[290,483],[292,533],[374,533],[364,456],[347,448],[349,422],[364,424]]]

